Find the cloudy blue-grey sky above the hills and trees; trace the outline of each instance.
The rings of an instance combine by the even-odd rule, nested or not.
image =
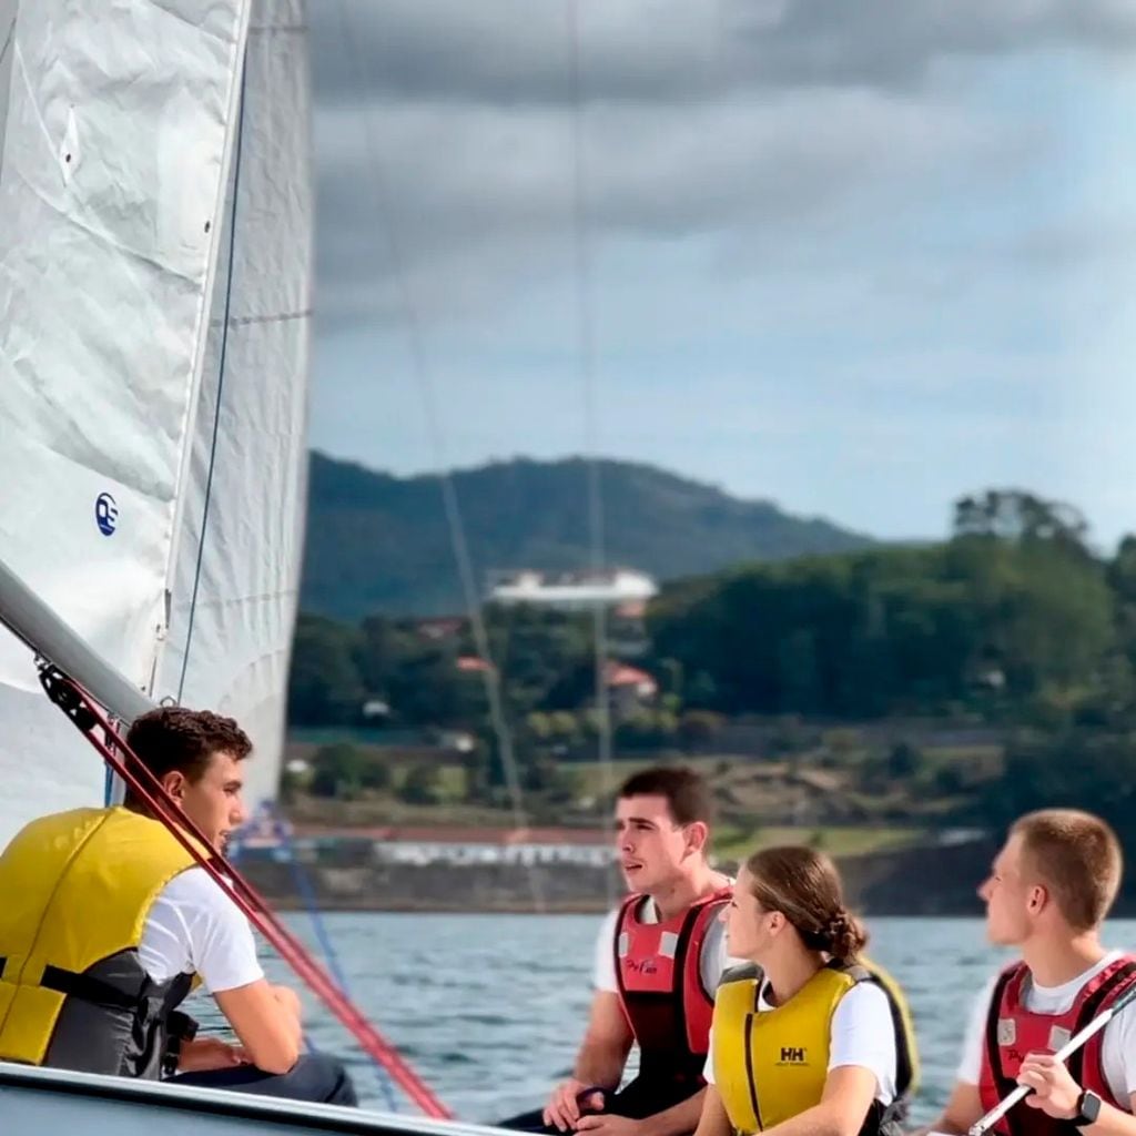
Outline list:
[[[1136,529],[1130,0],[309,8],[317,446]]]

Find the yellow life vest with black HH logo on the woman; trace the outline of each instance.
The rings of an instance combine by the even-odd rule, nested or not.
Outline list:
[[[874,1106],[866,1131],[899,1119],[918,1080],[914,1030],[895,982],[875,963],[819,970],[783,1005],[758,1010],[760,976],[730,979],[718,987],[713,1012],[715,1086],[734,1130],[771,1128],[820,1103],[828,1077],[832,1019],[844,995],[860,982],[887,994],[895,1028],[896,1106]]]

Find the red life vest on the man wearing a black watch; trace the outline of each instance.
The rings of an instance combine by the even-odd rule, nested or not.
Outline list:
[[[1109,963],[1080,988],[1064,1013],[1035,1013],[1022,1004],[1022,987],[1029,978],[1025,962],[1016,962],[999,976],[986,1017],[986,1045],[978,1093],[983,1109],[989,1110],[1018,1087],[1018,1070],[1027,1053],[1055,1053],[1119,994],[1136,983],[1136,955],[1126,954]],[[1072,1079],[1125,1112],[1109,1088],[1102,1060],[1104,1030],[1091,1037],[1068,1061]],[[999,1122],[1003,1136],[1064,1136],[1068,1125],[1047,1117],[1041,1109],[1019,1104]]]

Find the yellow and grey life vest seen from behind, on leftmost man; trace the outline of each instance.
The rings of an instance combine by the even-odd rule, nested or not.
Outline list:
[[[14,837],[0,855],[0,1059],[157,1076],[189,978],[150,982],[137,946],[158,893],[193,863],[160,821],[120,807]]]

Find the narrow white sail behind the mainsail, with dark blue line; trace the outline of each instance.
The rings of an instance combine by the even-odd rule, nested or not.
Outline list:
[[[303,541],[312,214],[304,7],[252,5],[169,641],[154,686],[157,698],[229,713],[248,730],[251,803],[274,796],[279,776]]]

